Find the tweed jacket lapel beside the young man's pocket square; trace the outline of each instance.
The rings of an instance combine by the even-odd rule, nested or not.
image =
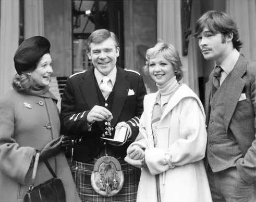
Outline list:
[[[236,109],[239,97],[241,96],[242,90],[246,84],[245,80],[241,78],[246,72],[246,65],[247,60],[240,55],[234,69],[229,73],[230,80],[224,98],[224,123],[226,131]]]

